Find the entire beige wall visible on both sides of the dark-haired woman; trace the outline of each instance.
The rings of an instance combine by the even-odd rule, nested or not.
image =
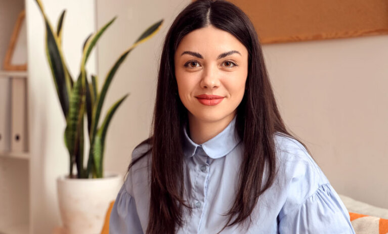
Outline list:
[[[108,131],[105,169],[125,173],[131,152],[150,131],[163,37],[189,0],[97,1],[100,77],[151,23],[161,31],[134,50],[108,91],[104,110],[131,92]],[[388,36],[265,45],[269,73],[286,124],[311,150],[338,193],[388,208]],[[102,78],[101,78],[102,80]],[[100,82],[102,84],[102,81]]]

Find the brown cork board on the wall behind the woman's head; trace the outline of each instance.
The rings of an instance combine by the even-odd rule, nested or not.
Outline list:
[[[388,0],[231,0],[261,43],[388,34]]]

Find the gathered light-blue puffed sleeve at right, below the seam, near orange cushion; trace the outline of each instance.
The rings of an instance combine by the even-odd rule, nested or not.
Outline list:
[[[279,233],[355,233],[348,210],[330,183],[279,220]]]

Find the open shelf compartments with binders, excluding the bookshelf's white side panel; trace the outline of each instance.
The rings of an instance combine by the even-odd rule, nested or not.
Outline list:
[[[11,36],[24,0],[0,1],[0,233],[27,234],[29,152],[27,71],[4,70]]]

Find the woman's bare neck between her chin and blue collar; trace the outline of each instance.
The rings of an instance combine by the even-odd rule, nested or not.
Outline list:
[[[225,118],[216,122],[207,122],[195,118],[190,112],[189,117],[189,130],[190,138],[196,144],[202,144],[207,142],[209,139],[218,135],[222,132],[228,124],[233,120],[236,112],[226,116]]]

